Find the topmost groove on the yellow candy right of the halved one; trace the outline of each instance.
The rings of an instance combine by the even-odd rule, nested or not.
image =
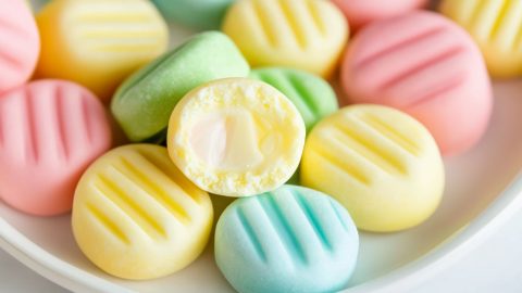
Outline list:
[[[410,140],[407,135],[401,133],[387,123],[381,120],[381,118],[370,113],[364,113],[356,117],[359,122],[368,125],[370,129],[413,156],[418,156],[421,152],[421,148],[417,144],[417,142]]]

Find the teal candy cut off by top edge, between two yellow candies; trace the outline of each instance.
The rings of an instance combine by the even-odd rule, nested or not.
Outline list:
[[[167,20],[201,28],[219,28],[235,0],[152,0]]]

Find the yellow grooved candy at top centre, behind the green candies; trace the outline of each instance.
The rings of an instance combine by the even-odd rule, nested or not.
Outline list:
[[[348,40],[343,13],[323,0],[243,0],[223,21],[250,65],[288,66],[330,77]]]

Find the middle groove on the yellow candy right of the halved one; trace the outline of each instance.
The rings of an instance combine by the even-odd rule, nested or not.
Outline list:
[[[373,139],[368,133],[361,131],[360,133],[352,129],[347,124],[337,124],[335,128],[332,128],[333,141],[339,145],[350,145],[351,151],[357,152],[360,156],[365,158],[369,163],[381,168],[388,174],[407,174],[405,164],[396,157],[396,155],[387,152],[386,148],[380,148],[380,140],[382,136],[375,136]],[[357,146],[353,148],[353,143],[347,143],[347,140],[353,142]],[[348,148],[346,148],[348,149]],[[384,164],[383,164],[384,163]]]

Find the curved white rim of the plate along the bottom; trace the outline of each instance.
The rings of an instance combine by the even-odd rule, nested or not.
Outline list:
[[[415,260],[340,292],[402,292],[447,268],[522,209],[522,174],[460,230]],[[74,292],[134,292],[77,268],[27,239],[0,216],[0,249],[46,279]]]

